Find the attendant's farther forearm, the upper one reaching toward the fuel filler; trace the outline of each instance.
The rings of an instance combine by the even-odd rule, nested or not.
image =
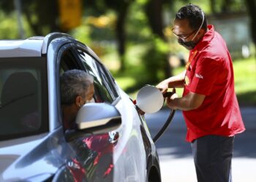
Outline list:
[[[161,90],[161,92],[166,92],[168,88],[182,88],[184,87],[185,74],[186,71],[183,71],[181,74],[165,79],[157,84],[156,87]]]

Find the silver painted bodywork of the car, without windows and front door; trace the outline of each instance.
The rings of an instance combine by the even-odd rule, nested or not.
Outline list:
[[[45,57],[48,78],[48,121],[45,121],[48,122],[48,132],[0,141],[0,181],[59,181],[56,177],[62,175],[59,171],[65,167],[79,167],[71,160],[76,151],[64,137],[59,114],[59,86],[56,84],[56,58],[61,47],[67,44],[85,47],[96,60],[99,59],[89,47],[64,33],[26,40],[0,41],[0,59]],[[121,114],[121,125],[116,130],[109,131],[109,135],[118,133],[118,139],[114,141],[113,177],[110,181],[153,181],[149,179],[152,174],[161,181],[157,150],[146,121],[138,114],[129,96],[116,82],[113,81],[113,84],[118,97],[111,106]],[[94,181],[102,179],[104,178],[94,177]],[[90,180],[87,178],[83,181]]]

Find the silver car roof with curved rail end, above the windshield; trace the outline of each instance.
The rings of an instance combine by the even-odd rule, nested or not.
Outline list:
[[[66,33],[50,33],[25,40],[0,40],[0,58],[41,57],[47,53],[50,41],[59,37],[73,39]]]

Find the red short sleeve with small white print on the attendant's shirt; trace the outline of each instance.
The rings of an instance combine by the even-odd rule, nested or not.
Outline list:
[[[203,58],[197,61],[195,74],[192,78],[190,92],[210,95],[211,90],[219,76],[219,61]]]

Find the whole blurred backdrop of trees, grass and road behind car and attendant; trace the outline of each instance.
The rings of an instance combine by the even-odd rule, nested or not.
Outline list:
[[[135,99],[143,85],[156,85],[184,70],[189,52],[177,43],[171,28],[178,9],[189,3],[203,9],[233,58],[235,89],[246,124],[246,132],[236,137],[233,176],[236,181],[255,181],[256,0],[0,0],[0,39],[69,33],[91,47]],[[177,92],[182,94],[181,89]],[[152,136],[168,114],[165,108],[146,115]],[[186,130],[177,111],[156,143],[162,181],[196,181]]]

